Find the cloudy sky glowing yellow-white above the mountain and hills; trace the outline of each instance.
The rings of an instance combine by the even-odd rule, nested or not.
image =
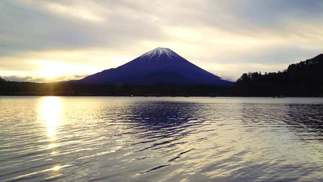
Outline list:
[[[157,47],[235,81],[323,53],[323,1],[0,1],[0,76],[77,80]]]

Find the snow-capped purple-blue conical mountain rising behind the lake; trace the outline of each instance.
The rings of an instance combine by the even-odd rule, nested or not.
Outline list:
[[[156,48],[117,68],[75,82],[91,84],[232,85],[187,61],[169,48]]]

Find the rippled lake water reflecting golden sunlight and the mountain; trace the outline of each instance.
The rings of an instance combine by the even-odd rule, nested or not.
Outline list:
[[[0,97],[0,181],[322,181],[323,99]]]

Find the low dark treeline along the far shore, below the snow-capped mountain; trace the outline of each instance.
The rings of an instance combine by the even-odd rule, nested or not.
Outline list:
[[[173,84],[152,85],[94,85],[73,82],[2,81],[0,95],[6,96],[228,96],[230,86]]]

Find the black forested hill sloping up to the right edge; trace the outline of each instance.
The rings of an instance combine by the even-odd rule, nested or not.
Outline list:
[[[278,73],[244,73],[233,85],[235,96],[323,96],[323,54],[291,64]]]

